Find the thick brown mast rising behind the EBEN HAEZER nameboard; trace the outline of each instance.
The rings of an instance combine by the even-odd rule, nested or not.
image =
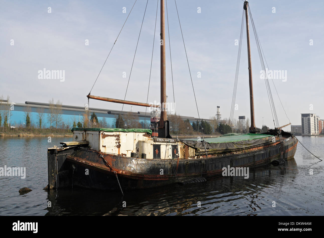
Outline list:
[[[164,20],[164,0],[161,0],[161,117],[158,127],[158,136],[165,137],[165,125],[167,120],[166,111],[166,74],[165,74],[165,20]]]

